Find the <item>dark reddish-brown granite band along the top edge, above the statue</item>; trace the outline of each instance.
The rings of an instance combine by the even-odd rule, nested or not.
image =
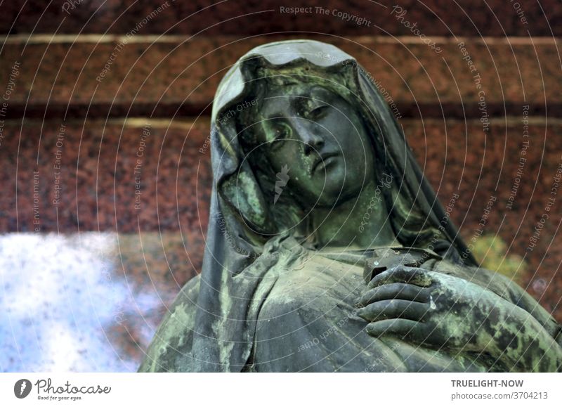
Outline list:
[[[71,3],[76,6],[72,7]],[[25,6],[18,1],[3,4],[2,32],[124,34],[162,7],[150,24],[139,27],[140,34],[203,32],[206,36],[215,36],[298,31],[342,37],[410,35],[409,28],[397,24],[391,17],[393,7],[400,6],[407,11],[406,19],[412,24],[417,22],[417,27],[428,35],[551,37],[553,33],[562,33],[562,5],[556,0],[542,0],[540,4],[532,0],[311,0],[306,3],[298,0],[54,0],[46,5],[41,0],[26,1]],[[294,7],[310,9],[296,14],[282,12]],[[328,12],[320,13],[316,7]],[[342,18],[339,13],[358,18]],[[364,18],[365,22],[360,22],[359,18]],[[14,21],[17,24],[13,25]]]

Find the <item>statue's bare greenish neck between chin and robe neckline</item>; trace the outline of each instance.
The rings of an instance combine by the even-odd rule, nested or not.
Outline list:
[[[332,208],[315,208],[311,213],[315,240],[320,247],[349,249],[400,246],[388,219],[384,182],[371,181],[353,198]]]

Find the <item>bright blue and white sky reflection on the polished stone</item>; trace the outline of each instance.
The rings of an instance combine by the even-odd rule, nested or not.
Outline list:
[[[127,287],[116,252],[112,233],[0,236],[1,371],[136,370],[109,330],[159,300]]]

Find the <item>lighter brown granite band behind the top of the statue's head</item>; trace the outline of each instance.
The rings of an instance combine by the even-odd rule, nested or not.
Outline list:
[[[15,62],[21,65],[6,117],[208,114],[218,82],[237,58],[287,38],[294,36],[142,37],[124,46],[119,37],[54,44],[12,39],[4,46],[0,84],[8,82]],[[522,105],[530,105],[530,115],[562,114],[555,39],[437,39],[439,54],[414,37],[318,39],[355,56],[379,89],[388,90],[402,117],[481,117],[481,91],[490,116],[520,115]]]

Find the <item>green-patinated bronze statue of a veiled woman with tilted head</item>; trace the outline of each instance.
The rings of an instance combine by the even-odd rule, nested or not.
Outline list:
[[[202,273],[140,371],[561,369],[561,326],[478,267],[370,79],[305,40],[228,71]]]

